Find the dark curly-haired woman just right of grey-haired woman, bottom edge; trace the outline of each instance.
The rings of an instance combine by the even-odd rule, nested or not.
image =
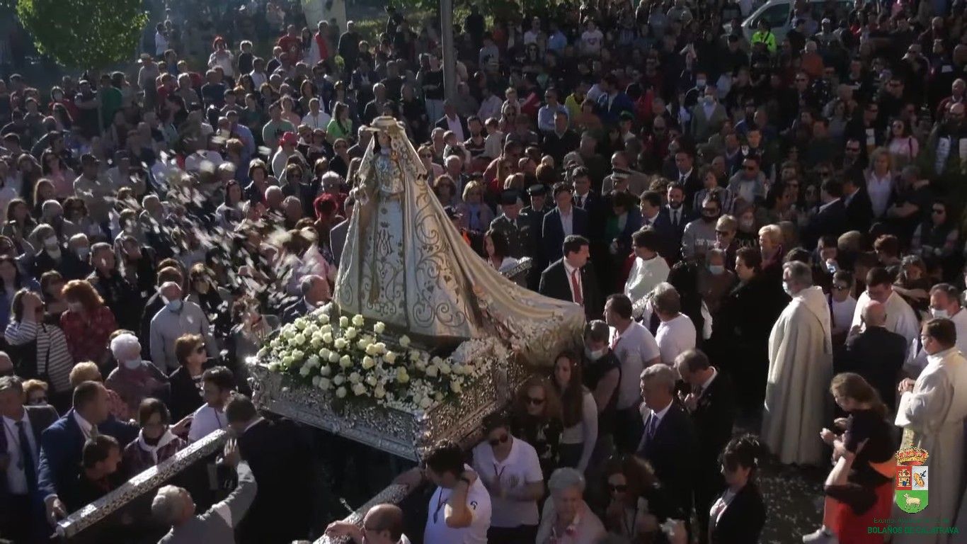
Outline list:
[[[604,492],[604,528],[630,542],[652,542],[665,520],[684,519],[682,512],[669,509],[671,501],[661,491],[652,468],[633,455],[607,460]]]

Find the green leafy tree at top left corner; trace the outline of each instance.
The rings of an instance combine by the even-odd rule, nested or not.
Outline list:
[[[148,22],[141,0],[19,0],[16,15],[38,51],[83,70],[130,60]]]

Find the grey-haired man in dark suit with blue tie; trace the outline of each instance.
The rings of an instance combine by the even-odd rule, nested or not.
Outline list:
[[[635,455],[655,468],[675,517],[688,520],[692,481],[699,477],[694,472],[698,440],[689,414],[675,399],[677,379],[667,365],[652,365],[641,373],[641,397],[651,412]]]

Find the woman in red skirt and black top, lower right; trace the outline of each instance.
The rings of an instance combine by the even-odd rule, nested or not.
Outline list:
[[[858,374],[836,375],[830,392],[849,417],[836,420],[840,435],[829,429],[820,434],[833,447],[835,466],[824,488],[823,527],[803,542],[881,544],[883,535],[867,528],[874,518],[890,517],[894,502],[896,448],[887,407]]]

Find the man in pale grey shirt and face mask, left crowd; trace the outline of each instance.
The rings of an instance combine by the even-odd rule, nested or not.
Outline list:
[[[151,362],[162,372],[178,368],[175,341],[186,334],[199,334],[205,339],[209,353],[218,353],[218,344],[212,337],[208,317],[201,308],[182,299],[182,288],[175,282],[165,282],[159,288],[164,306],[151,319]]]

